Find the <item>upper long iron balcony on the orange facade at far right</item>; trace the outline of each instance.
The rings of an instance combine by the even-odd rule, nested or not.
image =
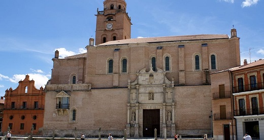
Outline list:
[[[247,84],[243,86],[234,86],[233,93],[235,94],[238,92],[253,91],[259,89],[264,89],[264,87],[262,87],[262,83]]]

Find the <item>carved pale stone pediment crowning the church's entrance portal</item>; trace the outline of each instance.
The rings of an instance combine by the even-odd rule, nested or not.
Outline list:
[[[157,84],[171,84],[166,77],[166,72],[162,69],[157,68],[157,71],[153,71],[150,67],[150,71],[146,71],[146,68],[137,72],[137,79],[130,85],[157,85]]]

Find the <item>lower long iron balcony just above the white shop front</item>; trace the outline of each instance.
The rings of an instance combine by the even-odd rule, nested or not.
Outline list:
[[[264,114],[264,108],[235,110],[235,116],[261,115]]]

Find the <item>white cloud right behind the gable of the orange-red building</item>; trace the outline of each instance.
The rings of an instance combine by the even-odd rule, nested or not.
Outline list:
[[[39,73],[29,73],[29,80],[35,81],[35,87],[39,89],[41,86],[44,88],[45,84],[47,84],[47,81],[50,79],[51,75],[43,75]],[[12,78],[9,78],[9,80],[13,83],[18,83],[20,80],[25,79],[25,74],[15,74]]]

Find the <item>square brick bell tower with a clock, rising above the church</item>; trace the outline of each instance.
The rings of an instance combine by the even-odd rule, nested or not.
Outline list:
[[[131,19],[124,0],[105,0],[104,11],[96,16],[95,45],[131,37]]]

